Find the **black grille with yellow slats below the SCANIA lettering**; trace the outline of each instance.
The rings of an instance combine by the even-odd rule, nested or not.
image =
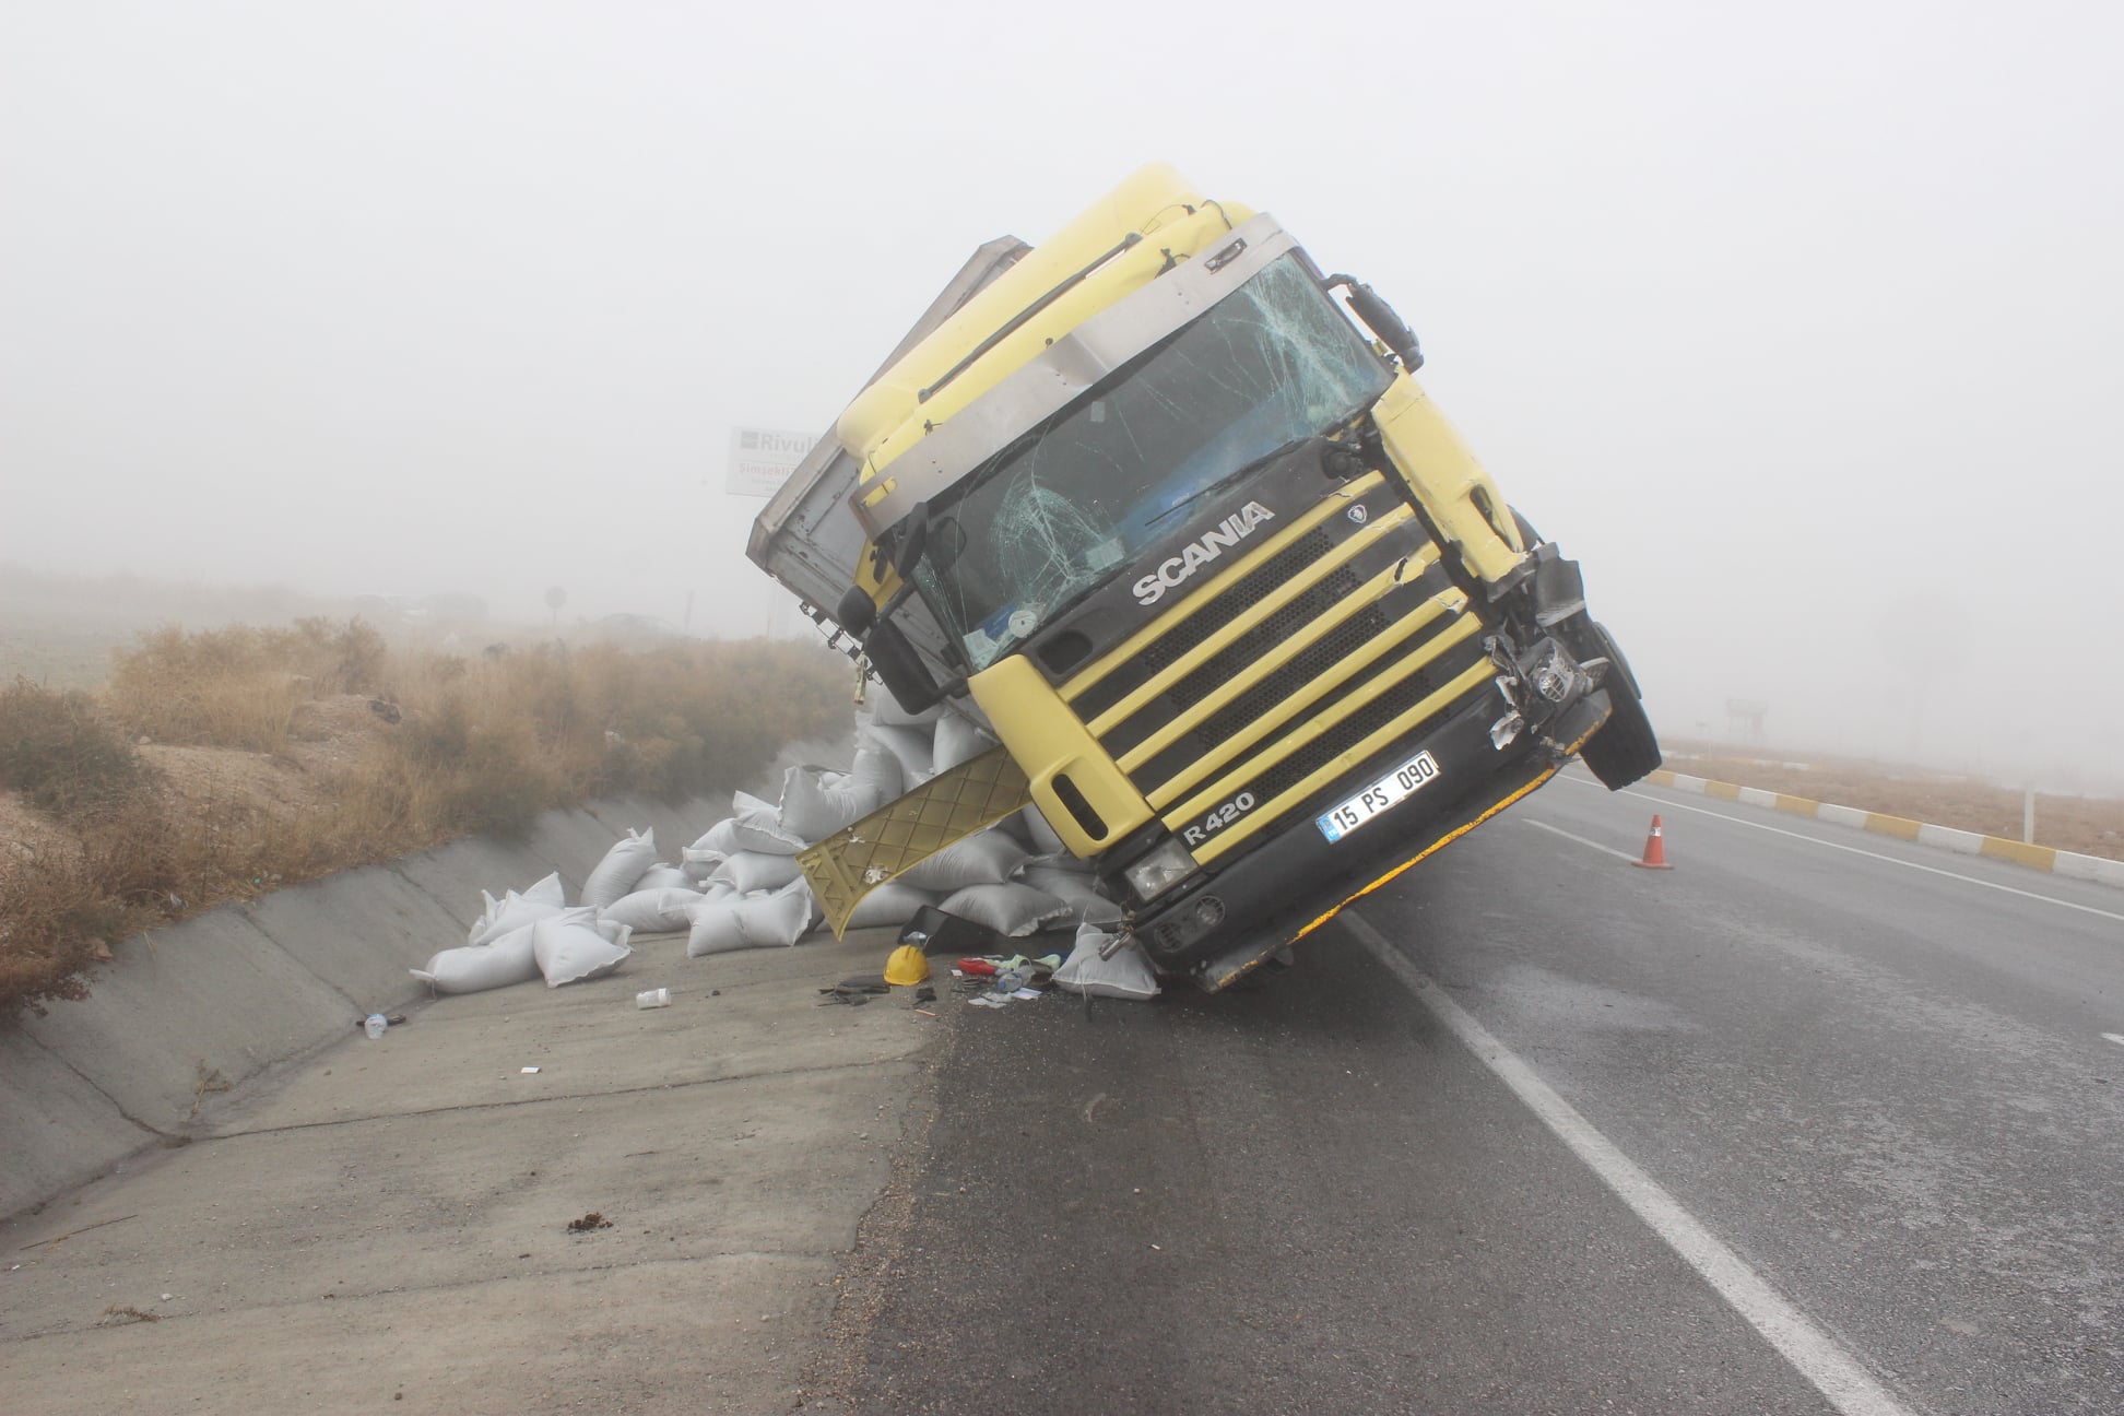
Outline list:
[[[1395,507],[1351,529],[1336,510],[1213,580],[1121,662],[1062,688],[1175,832],[1247,798],[1189,841],[1198,860],[1283,824],[1323,785],[1317,775],[1429,730],[1487,688],[1483,624],[1415,516]]]

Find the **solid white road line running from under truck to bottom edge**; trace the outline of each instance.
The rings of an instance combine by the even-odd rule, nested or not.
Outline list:
[[[1846,1352],[1835,1337],[1814,1325],[1803,1312],[1786,1301],[1769,1282],[1748,1267],[1740,1255],[1727,1248],[1718,1236],[1703,1227],[1697,1216],[1680,1206],[1652,1176],[1644,1174],[1635,1161],[1623,1155],[1612,1140],[1593,1129],[1593,1123],[1557,1095],[1548,1083],[1536,1076],[1534,1068],[1521,1061],[1504,1042],[1493,1038],[1483,1023],[1453,1002],[1438,983],[1387,943],[1357,911],[1342,911],[1342,928],[1364,945],[1372,957],[1387,966],[1417,1000],[1446,1025],[1461,1044],[1474,1053],[1483,1066],[1512,1089],[1527,1104],[1542,1125],[1572,1149],[1614,1195],[1635,1210],[1638,1219],[1650,1225],[1652,1233],[1667,1242],[1680,1259],[1708,1282],[1718,1297],[1731,1303],[1733,1312],[1763,1333],[1769,1346],[1778,1348],[1784,1361],[1793,1363],[1799,1376],[1814,1382],[1829,1403],[1844,1416],[1909,1416],[1909,1410],[1875,1382],[1858,1359]]]

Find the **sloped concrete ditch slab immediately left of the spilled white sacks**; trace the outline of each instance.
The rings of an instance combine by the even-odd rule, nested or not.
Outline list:
[[[425,998],[427,987],[406,970],[465,943],[465,926],[387,866],[342,870],[240,909],[357,1013],[395,1013]]]

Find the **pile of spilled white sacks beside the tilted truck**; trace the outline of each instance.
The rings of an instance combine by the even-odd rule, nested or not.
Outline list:
[[[794,945],[824,923],[796,853],[994,745],[964,709],[905,713],[879,692],[856,715],[847,773],[792,766],[780,805],[739,792],[731,815],[684,847],[678,862],[656,858],[656,832],[629,830],[590,870],[573,906],[556,875],[499,900],[484,896],[467,945],[444,949],[414,977],[438,994],[535,977],[559,987],[618,968],[633,934],[684,932],[688,957]],[[1121,909],[1068,853],[1039,807],[879,885],[856,904],[847,928],[896,928],[924,904],[1007,938],[1121,919]]]

